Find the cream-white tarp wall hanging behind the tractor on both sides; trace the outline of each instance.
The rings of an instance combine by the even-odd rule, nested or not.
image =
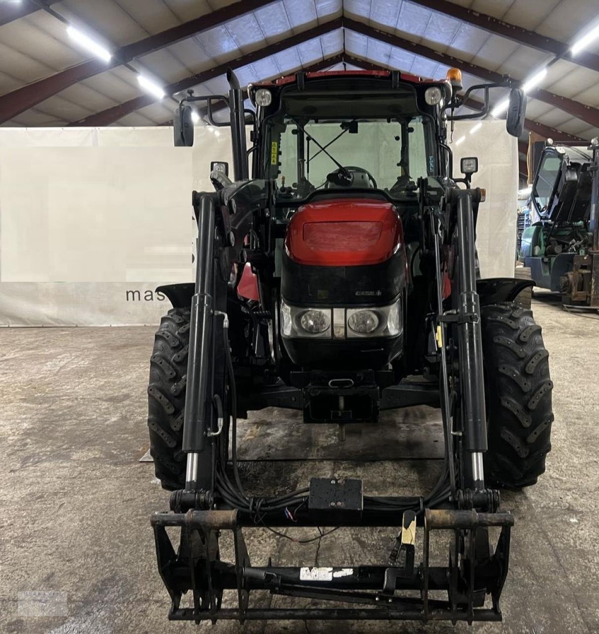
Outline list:
[[[454,165],[478,156],[482,275],[510,276],[517,145],[503,122],[473,125],[456,124]],[[155,287],[193,278],[191,192],[211,190],[211,160],[230,162],[219,133],[174,148],[170,127],[0,129],[0,325],[158,323]]]

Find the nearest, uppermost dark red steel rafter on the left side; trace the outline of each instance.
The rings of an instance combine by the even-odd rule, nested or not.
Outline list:
[[[109,63],[95,59],[84,61],[76,66],[65,68],[65,70],[55,73],[54,75],[44,77],[44,79],[40,79],[32,84],[17,88],[10,93],[0,96],[0,124],[25,112],[25,110],[29,110],[29,108],[33,108],[38,103],[41,103],[41,101],[48,99],[56,93],[60,93],[60,91],[77,82],[89,79],[89,77],[102,73],[109,68],[120,66],[123,63],[157,51],[165,46],[170,46],[182,39],[213,29],[223,22],[239,18],[267,4],[272,4],[273,1],[274,0],[240,0],[239,2],[228,4],[221,9],[202,15],[194,20],[189,20],[189,22],[184,22],[183,24],[171,27],[171,29],[166,29],[153,36],[144,37],[137,42],[121,46],[121,48],[114,51],[112,60],[110,60]],[[51,4],[51,2],[46,1],[46,4]],[[26,7],[33,7],[34,10],[36,10],[35,5],[29,2],[23,2],[18,6],[21,10],[25,10]],[[10,6],[3,6],[3,8],[0,9],[0,24],[2,23],[2,16],[7,11],[14,13],[16,9],[13,10]],[[30,13],[30,11],[27,11],[27,13]]]

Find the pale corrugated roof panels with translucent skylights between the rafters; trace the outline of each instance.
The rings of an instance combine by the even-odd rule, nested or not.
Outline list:
[[[456,6],[485,13],[560,42],[571,42],[599,20],[596,0],[453,0]],[[547,51],[494,34],[430,8],[418,0],[279,0],[224,19],[218,25],[131,60],[131,67],[162,85],[173,84],[216,65],[243,58],[270,44],[345,15],[366,25],[451,55],[486,70],[522,80],[553,59]],[[238,3],[230,0],[63,0],[52,3],[69,22],[114,50],[160,34]],[[0,4],[1,11],[1,4]],[[1,13],[0,13],[1,17]],[[448,65],[377,37],[339,27],[273,55],[237,68],[240,82],[260,81],[346,53],[385,67],[440,78]],[[589,47],[599,53],[599,39]],[[0,101],[3,95],[51,77],[89,59],[74,44],[65,24],[46,11],[34,11],[0,26]],[[464,74],[464,86],[480,83]],[[551,65],[543,89],[599,108],[599,72],[567,60]],[[198,94],[227,91],[224,76],[195,87]],[[16,94],[16,93],[15,93]],[[3,126],[65,126],[144,94],[124,65],[109,68],[45,98]],[[171,119],[174,102],[165,98],[130,112],[115,125],[148,126]],[[1,112],[0,112],[1,114]],[[599,134],[588,120],[537,99],[529,99],[529,119],[583,138]]]

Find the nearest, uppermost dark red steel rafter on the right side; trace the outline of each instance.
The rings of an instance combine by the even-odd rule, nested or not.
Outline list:
[[[560,42],[552,37],[542,36],[534,31],[523,29],[515,24],[503,22],[498,18],[494,18],[480,11],[473,11],[459,4],[449,2],[448,0],[410,0],[414,4],[420,4],[428,9],[443,13],[451,18],[457,18],[462,22],[471,24],[479,29],[483,29],[496,36],[505,37],[518,44],[536,48],[539,51],[555,55],[571,61],[574,64],[590,68],[599,72],[599,55],[581,51],[576,57],[570,54],[570,46],[564,42]]]

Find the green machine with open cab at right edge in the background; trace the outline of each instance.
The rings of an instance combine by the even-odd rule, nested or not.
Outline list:
[[[546,145],[530,198],[540,220],[524,230],[518,259],[564,304],[599,308],[599,139]]]

